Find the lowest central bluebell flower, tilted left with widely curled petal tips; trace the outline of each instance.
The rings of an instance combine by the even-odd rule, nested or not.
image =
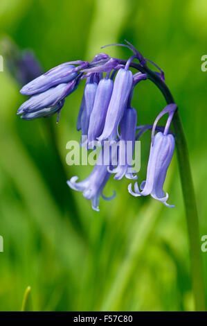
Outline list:
[[[100,196],[105,200],[111,200],[116,194],[107,198],[103,196],[102,190],[104,189],[107,180],[109,180],[110,173],[107,171],[106,165],[96,165],[93,168],[91,174],[84,180],[76,182],[78,180],[77,176],[71,178],[67,181],[67,184],[71,189],[82,191],[84,198],[91,200],[92,208],[99,212],[98,204]]]

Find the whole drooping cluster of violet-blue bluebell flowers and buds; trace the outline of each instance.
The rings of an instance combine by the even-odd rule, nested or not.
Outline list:
[[[80,182],[77,176],[72,177],[67,182],[69,187],[82,191],[84,198],[91,200],[93,209],[98,211],[100,196],[106,200],[115,196],[106,198],[102,194],[112,174],[116,180],[124,176],[131,180],[138,178],[135,171],[129,169],[132,165],[126,160],[124,145],[131,141],[133,154],[135,141],[143,135],[143,132],[152,129],[146,180],[140,187],[137,182],[134,187],[131,183],[128,191],[133,196],[151,195],[164,205],[173,207],[167,203],[168,194],[163,191],[163,184],[174,153],[174,135],[170,131],[170,123],[177,105],[174,103],[167,105],[156,117],[154,125],[137,126],[137,112],[131,102],[134,87],[149,77],[147,74],[149,69],[145,68],[147,61],[150,60],[144,58],[129,42],[110,45],[127,46],[133,55],[128,60],[121,60],[100,53],[91,62],[82,60],[65,62],[51,69],[22,87],[21,94],[30,98],[20,106],[17,114],[21,114],[22,119],[33,120],[51,117],[57,113],[58,122],[65,98],[77,89],[81,80],[85,80],[77,119],[77,129],[81,130],[82,136],[87,136],[81,146],[89,150],[96,141],[99,141],[100,146],[106,140],[121,142],[117,147],[118,162],[115,166],[112,157],[109,157],[107,165],[100,163],[102,149],[91,174]],[[136,65],[132,62],[134,60],[138,61]],[[152,64],[155,65],[154,62]],[[131,67],[138,67],[139,72],[133,74]],[[158,66],[156,68],[159,69],[156,74],[164,82],[163,71]],[[168,114],[166,125],[157,126],[163,114]]]

